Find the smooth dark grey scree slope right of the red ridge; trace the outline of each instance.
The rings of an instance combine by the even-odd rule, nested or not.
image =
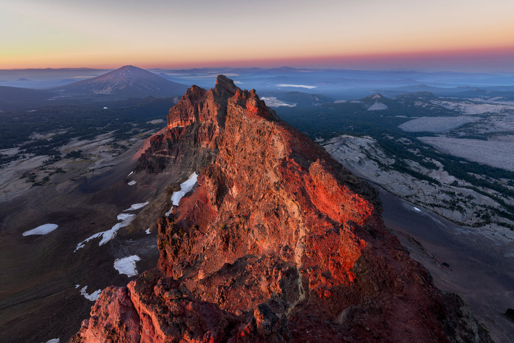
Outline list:
[[[514,243],[500,245],[480,234],[480,228],[416,211],[410,202],[379,190],[386,227],[432,273],[436,286],[466,299],[495,342],[514,341],[514,323],[503,315],[514,308]]]

